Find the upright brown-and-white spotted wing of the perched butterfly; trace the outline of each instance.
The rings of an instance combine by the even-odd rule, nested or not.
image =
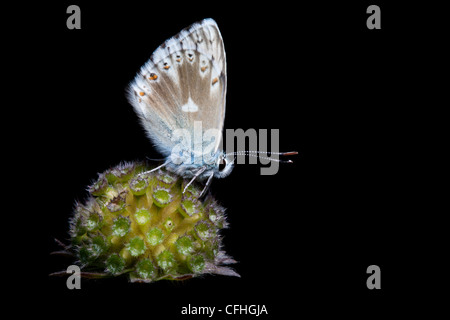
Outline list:
[[[148,137],[168,157],[177,144],[174,132],[194,136],[213,129],[217,152],[225,117],[226,59],[222,36],[205,19],[165,41],[130,84],[128,98]],[[191,146],[186,146],[191,148]]]

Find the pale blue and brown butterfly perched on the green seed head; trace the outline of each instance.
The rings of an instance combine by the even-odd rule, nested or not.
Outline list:
[[[166,40],[128,87],[128,100],[166,167],[184,178],[226,177],[235,153],[222,149],[227,73],[217,23],[204,19]],[[253,151],[254,152],[254,151]]]

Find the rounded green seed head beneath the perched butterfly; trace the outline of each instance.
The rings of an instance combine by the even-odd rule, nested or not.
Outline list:
[[[90,273],[131,281],[181,280],[205,273],[237,275],[221,251],[224,209],[203,186],[144,163],[100,174],[70,220],[73,253]],[[224,258],[225,257],[225,258]],[[207,267],[206,267],[207,266]]]

